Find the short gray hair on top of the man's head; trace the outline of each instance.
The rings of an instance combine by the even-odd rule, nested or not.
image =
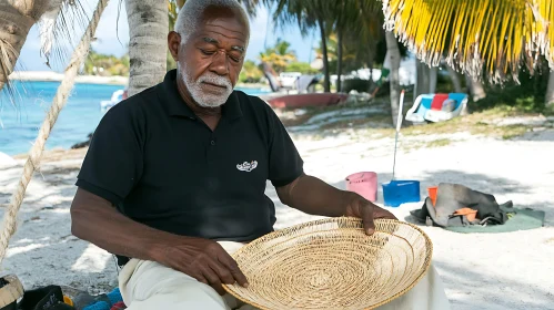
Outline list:
[[[202,13],[208,7],[220,7],[235,9],[246,22],[250,34],[250,21],[244,8],[236,0],[188,0],[179,10],[174,31],[181,35],[181,44],[184,44],[189,37],[199,28],[202,21]]]

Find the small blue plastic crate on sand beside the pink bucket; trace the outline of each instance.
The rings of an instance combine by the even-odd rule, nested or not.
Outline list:
[[[405,203],[420,202],[420,182],[397,179],[383,184],[383,200],[385,206],[389,207],[397,207]]]

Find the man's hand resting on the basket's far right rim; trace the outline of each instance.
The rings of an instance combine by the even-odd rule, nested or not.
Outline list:
[[[345,216],[361,218],[363,228],[370,236],[375,232],[375,224],[373,223],[374,219],[397,219],[392,213],[375,206],[357,194],[352,194],[352,198],[346,206]]]

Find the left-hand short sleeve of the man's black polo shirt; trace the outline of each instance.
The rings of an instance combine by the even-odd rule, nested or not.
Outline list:
[[[142,174],[144,122],[134,102],[110,108],[92,136],[77,186],[114,205],[120,204]]]

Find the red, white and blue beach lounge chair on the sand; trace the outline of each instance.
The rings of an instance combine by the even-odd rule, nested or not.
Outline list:
[[[413,123],[444,122],[459,116],[467,105],[467,94],[422,94],[406,113],[406,121]]]

